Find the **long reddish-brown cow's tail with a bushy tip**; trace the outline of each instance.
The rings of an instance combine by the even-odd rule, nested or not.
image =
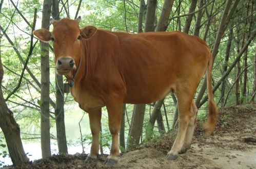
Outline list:
[[[210,135],[214,130],[216,124],[216,116],[218,115],[218,108],[213,100],[212,94],[212,86],[211,86],[211,72],[212,72],[212,55],[210,54],[210,59],[208,62],[207,68],[207,90],[208,90],[208,117],[207,121],[204,124],[204,129],[206,130],[206,134]]]

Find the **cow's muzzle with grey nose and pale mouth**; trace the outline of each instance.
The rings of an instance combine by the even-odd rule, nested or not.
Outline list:
[[[67,75],[71,70],[75,70],[75,61],[72,57],[60,57],[55,63],[55,68],[58,74]]]

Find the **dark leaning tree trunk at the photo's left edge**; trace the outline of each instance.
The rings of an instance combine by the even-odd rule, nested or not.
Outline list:
[[[0,2],[0,12],[3,5],[3,0]],[[0,30],[1,33],[1,30]],[[23,163],[28,163],[27,158],[20,135],[20,129],[16,123],[13,113],[8,109],[5,102],[3,91],[2,91],[2,80],[4,76],[4,69],[1,59],[1,38],[0,38],[0,128],[2,129],[6,144],[8,147],[9,155],[11,157],[13,165],[19,165]]]

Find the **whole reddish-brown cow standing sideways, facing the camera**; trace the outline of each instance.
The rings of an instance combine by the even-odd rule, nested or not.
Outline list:
[[[42,41],[53,41],[56,71],[73,81],[71,94],[89,114],[92,145],[86,161],[99,153],[102,107],[107,107],[112,135],[106,165],[113,165],[119,156],[122,104],[151,103],[170,92],[178,98],[179,130],[166,159],[185,153],[198,111],[193,96],[206,70],[209,114],[205,129],[213,131],[218,110],[212,96],[212,58],[202,39],[178,31],[129,34],[93,26],[80,29],[79,20],[53,20],[52,32],[33,33]]]

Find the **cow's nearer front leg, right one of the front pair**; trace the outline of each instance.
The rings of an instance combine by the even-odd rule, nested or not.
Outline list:
[[[108,166],[114,165],[118,161],[119,156],[119,132],[122,118],[122,102],[113,102],[107,105],[108,110],[108,126],[112,135],[112,145],[110,155],[105,164]]]

